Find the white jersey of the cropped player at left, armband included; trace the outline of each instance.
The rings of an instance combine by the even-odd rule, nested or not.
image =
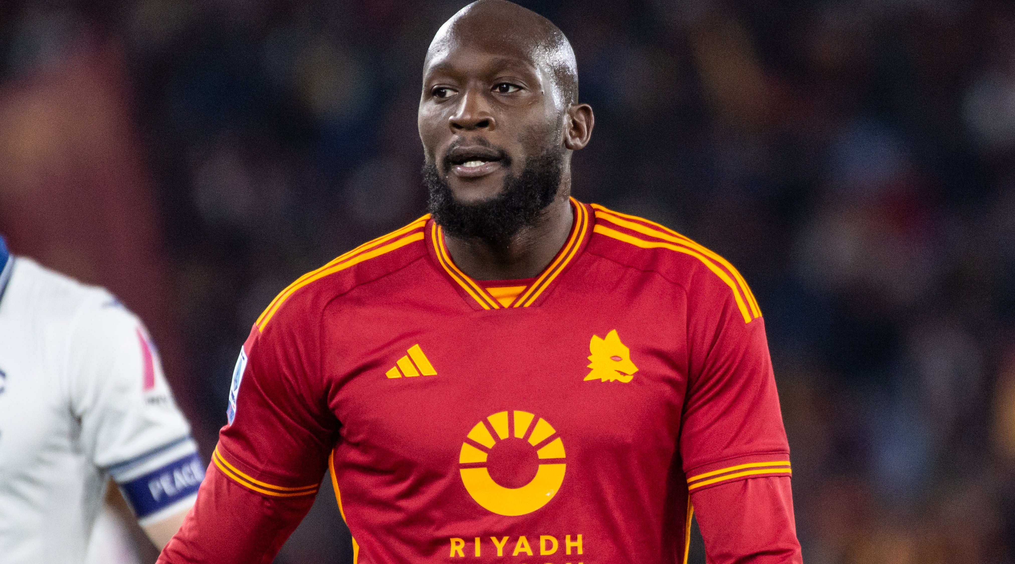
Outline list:
[[[109,477],[145,524],[192,505],[204,468],[138,319],[6,255],[0,239],[0,564],[80,563]]]

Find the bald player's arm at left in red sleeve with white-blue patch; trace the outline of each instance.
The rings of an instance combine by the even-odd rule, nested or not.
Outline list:
[[[338,427],[316,325],[276,315],[252,332],[197,503],[159,563],[270,563],[310,510]]]

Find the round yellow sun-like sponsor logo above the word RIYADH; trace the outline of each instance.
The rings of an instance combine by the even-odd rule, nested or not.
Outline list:
[[[462,483],[476,503],[499,515],[546,505],[564,481],[564,443],[542,417],[501,411],[476,423],[462,443]]]

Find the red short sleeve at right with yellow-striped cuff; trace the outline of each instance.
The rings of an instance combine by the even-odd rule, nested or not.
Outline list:
[[[790,476],[764,320],[745,321],[730,287],[708,273],[697,275],[691,287],[680,436],[688,489]]]

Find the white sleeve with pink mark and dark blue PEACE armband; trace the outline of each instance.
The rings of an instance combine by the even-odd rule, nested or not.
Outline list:
[[[192,505],[204,468],[141,322],[103,292],[73,319],[66,366],[82,446],[140,522]]]

